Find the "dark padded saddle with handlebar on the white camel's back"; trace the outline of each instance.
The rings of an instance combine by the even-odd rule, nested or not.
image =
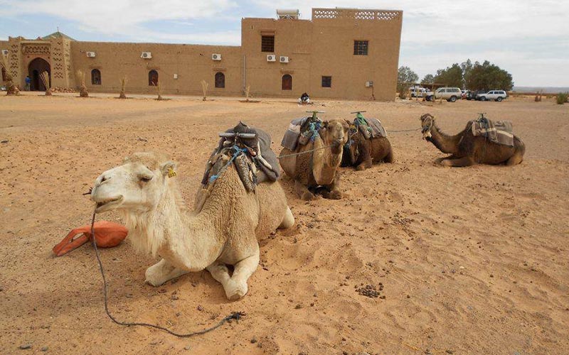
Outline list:
[[[220,136],[218,147],[211,153],[203,173],[203,187],[213,183],[230,163],[235,165],[241,182],[249,192],[255,191],[260,182],[279,178],[279,163],[277,155],[270,148],[271,137],[268,133],[239,122],[233,129],[220,133]]]

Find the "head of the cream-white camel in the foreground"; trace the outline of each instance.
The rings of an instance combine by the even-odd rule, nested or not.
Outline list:
[[[91,200],[97,213],[112,209],[148,212],[169,187],[176,164],[161,153],[134,153],[122,165],[105,171],[95,180]]]

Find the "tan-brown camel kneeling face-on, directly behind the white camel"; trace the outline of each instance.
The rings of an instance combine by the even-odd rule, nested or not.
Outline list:
[[[282,148],[280,166],[294,180],[294,191],[305,201],[314,200],[316,196],[309,188],[322,187],[324,198],[339,200],[342,197],[340,174],[338,168],[342,160],[344,144],[348,141],[349,125],[346,121],[333,119],[323,121],[314,142],[299,144],[295,151]],[[304,153],[306,151],[312,153]],[[297,154],[285,156],[290,154]]]

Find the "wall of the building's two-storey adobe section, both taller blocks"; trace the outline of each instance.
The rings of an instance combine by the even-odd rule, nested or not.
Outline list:
[[[312,21],[243,18],[245,80],[266,96],[371,99],[373,93],[393,101],[402,23],[402,11],[360,9],[313,9]],[[275,35],[277,62],[261,51],[263,34]],[[354,40],[368,40],[368,55],[353,55]],[[289,62],[280,63],[281,55]],[[292,90],[282,90],[285,74],[292,75]],[[322,76],[332,77],[331,87],[321,87]]]

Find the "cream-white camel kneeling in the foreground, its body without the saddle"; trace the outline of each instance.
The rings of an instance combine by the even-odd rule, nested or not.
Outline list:
[[[257,238],[294,224],[285,192],[279,182],[260,182],[248,192],[229,164],[215,183],[198,191],[196,208],[188,212],[175,169],[168,155],[134,153],[95,180],[95,212],[119,212],[134,249],[161,257],[146,271],[150,285],[207,269],[227,298],[238,300],[259,264]]]

